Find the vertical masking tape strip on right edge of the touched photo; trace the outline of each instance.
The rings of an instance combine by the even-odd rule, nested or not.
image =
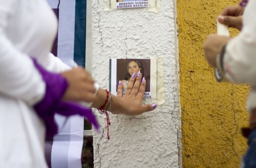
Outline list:
[[[163,57],[151,58],[150,62],[152,101],[163,104],[165,102]]]

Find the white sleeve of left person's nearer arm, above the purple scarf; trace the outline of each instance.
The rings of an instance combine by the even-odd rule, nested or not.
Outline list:
[[[42,99],[45,83],[31,58],[20,53],[5,35],[13,0],[0,5],[0,94],[24,100],[30,105]]]

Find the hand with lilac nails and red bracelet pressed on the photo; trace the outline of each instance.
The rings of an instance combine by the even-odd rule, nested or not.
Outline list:
[[[145,86],[146,80],[142,75],[136,75],[134,78],[131,77],[125,95],[122,97],[123,86],[122,84],[118,85],[117,96],[112,95],[111,109],[109,111],[113,114],[139,115],[143,112],[154,110],[157,107],[157,103],[142,105]],[[92,107],[100,108],[105,103],[106,98],[107,92],[99,88]],[[103,110],[107,110],[109,105],[110,95]]]

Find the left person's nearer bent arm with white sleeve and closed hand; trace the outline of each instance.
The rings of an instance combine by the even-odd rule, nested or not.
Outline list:
[[[5,28],[8,19],[13,15],[15,2],[15,0],[1,1],[0,5],[0,93],[23,100],[32,106],[44,98],[46,85],[31,57],[17,50],[5,35]],[[53,56],[50,58],[55,61],[52,62],[53,64],[49,62],[48,67],[46,66],[48,70],[65,69],[64,63],[56,64],[58,58]],[[82,68],[77,68],[63,72],[61,75],[69,84],[64,100],[89,102],[94,100],[94,81],[90,74]]]

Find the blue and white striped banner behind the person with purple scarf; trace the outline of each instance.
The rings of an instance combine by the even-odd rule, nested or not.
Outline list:
[[[74,60],[78,65],[91,69],[91,1],[47,0],[59,17],[59,31],[53,53],[65,64]],[[88,55],[86,58],[85,56]],[[59,133],[45,141],[46,160],[49,168],[82,168],[84,118],[78,115],[67,120],[56,115]]]

